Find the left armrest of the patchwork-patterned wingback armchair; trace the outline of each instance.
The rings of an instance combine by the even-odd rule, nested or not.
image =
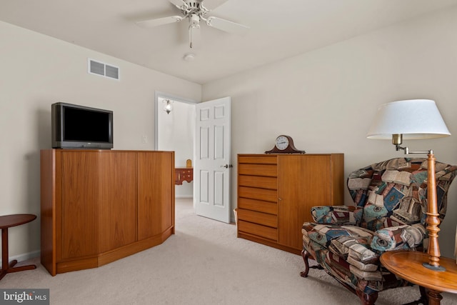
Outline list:
[[[317,224],[348,224],[358,226],[363,214],[361,206],[313,206],[311,216]]]

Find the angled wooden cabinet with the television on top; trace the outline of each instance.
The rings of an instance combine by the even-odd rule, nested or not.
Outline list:
[[[41,151],[41,264],[94,268],[174,234],[174,152]]]

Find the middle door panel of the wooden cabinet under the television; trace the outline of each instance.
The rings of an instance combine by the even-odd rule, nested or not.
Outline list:
[[[136,159],[129,152],[100,154],[101,252],[136,239]]]

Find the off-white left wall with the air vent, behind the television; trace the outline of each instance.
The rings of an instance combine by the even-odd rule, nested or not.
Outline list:
[[[51,104],[114,111],[114,149],[154,149],[154,93],[201,100],[201,85],[0,22],[0,215],[40,214],[39,151],[51,147]],[[87,74],[87,58],[120,81]],[[148,143],[142,143],[146,135]],[[9,230],[10,256],[36,255],[40,221]]]

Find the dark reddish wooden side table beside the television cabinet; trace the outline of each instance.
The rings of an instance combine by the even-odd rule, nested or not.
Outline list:
[[[0,229],[1,229],[1,272],[0,272],[0,279],[6,274],[17,272],[17,271],[24,271],[24,270],[31,270],[35,269],[35,265],[27,265],[27,266],[19,266],[14,267],[17,264],[16,259],[9,263],[9,256],[8,256],[8,228],[11,226],[20,226],[21,224],[26,224],[30,221],[34,221],[36,219],[36,215],[33,214],[14,214],[14,215],[5,215],[0,216]]]

